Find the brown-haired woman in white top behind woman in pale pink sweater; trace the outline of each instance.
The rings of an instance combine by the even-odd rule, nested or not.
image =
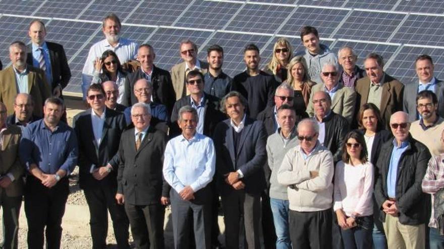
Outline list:
[[[378,176],[376,161],[379,157],[381,145],[392,138],[392,132],[384,129],[384,123],[381,121],[379,109],[372,103],[366,103],[362,106],[359,113],[360,132],[364,135],[365,144],[368,151],[368,158],[374,165],[375,179]],[[374,248],[387,248],[384,228],[379,220],[379,210],[374,200],[374,227],[373,227],[373,246]]]

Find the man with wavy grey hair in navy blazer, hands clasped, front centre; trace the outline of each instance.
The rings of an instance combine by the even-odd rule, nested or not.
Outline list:
[[[245,115],[247,101],[230,92],[221,102],[229,119],[214,131],[216,178],[225,213],[226,246],[239,248],[243,210],[248,248],[260,248],[260,195],[265,188],[266,132],[260,121]],[[267,236],[266,234],[265,236]]]

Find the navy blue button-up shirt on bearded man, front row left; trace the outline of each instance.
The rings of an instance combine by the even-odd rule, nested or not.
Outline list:
[[[64,170],[69,175],[77,165],[77,137],[74,130],[59,122],[53,132],[43,119],[26,126],[20,141],[20,159],[29,170],[31,163],[46,174]]]

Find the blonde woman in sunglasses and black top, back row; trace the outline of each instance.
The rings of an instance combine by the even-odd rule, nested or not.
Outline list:
[[[287,66],[290,62],[293,49],[286,38],[279,38],[273,47],[273,56],[264,68],[264,72],[274,75],[278,82],[284,82],[287,79]]]

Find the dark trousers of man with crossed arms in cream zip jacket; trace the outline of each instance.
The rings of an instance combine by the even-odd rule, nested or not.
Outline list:
[[[290,210],[290,239],[298,249],[331,248],[331,209],[315,212]]]

